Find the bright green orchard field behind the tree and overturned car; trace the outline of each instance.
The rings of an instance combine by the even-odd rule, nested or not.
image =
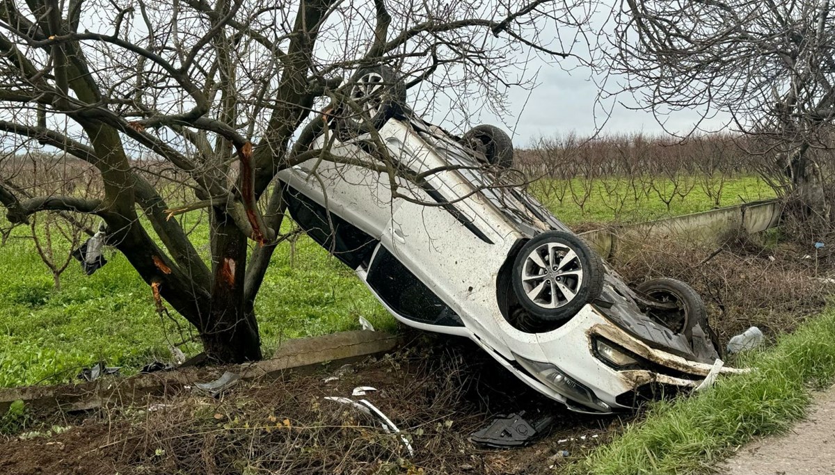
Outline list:
[[[539,184],[538,186],[543,186]],[[551,210],[569,225],[590,221],[642,220],[709,210],[711,200],[698,188],[676,197],[668,211],[653,196],[615,210],[611,196],[599,184],[579,210],[570,198],[559,204],[543,189],[534,189]],[[755,178],[726,184],[722,205],[767,198],[770,189]],[[83,275],[78,263],[62,276],[62,290],[53,291],[52,278],[33,249],[28,228],[22,227],[0,247],[0,387],[68,382],[83,366],[104,360],[110,366],[136,371],[155,359],[170,358],[168,345],[193,335],[185,320],[160,321],[148,286],[124,256],[110,250],[109,264],[94,275]],[[205,233],[197,230],[198,247]],[[356,329],[359,316],[383,330],[395,322],[365,286],[324,250],[301,237],[294,249],[283,244],[274,255],[256,301],[262,341],[269,356],[282,339],[316,336]],[[187,354],[198,345],[183,346]]]

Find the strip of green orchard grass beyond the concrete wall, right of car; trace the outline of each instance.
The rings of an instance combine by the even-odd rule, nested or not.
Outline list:
[[[531,191],[543,202],[560,220],[569,225],[587,222],[619,221],[623,223],[637,223],[641,221],[657,220],[669,216],[687,215],[717,207],[716,199],[708,195],[701,179],[687,177],[688,184],[682,184],[681,189],[689,192],[674,193],[671,181],[660,180],[656,192],[649,186],[641,189],[640,183],[633,189],[627,179],[595,179],[591,182],[589,198],[580,207],[585,194],[583,179],[570,180],[539,180],[531,185]],[[716,187],[716,181],[713,186]],[[564,195],[562,189],[565,190]],[[572,198],[572,189],[576,200]],[[559,200],[559,196],[563,200]],[[719,195],[716,193],[716,195]],[[637,196],[637,198],[636,198]],[[742,176],[726,179],[718,196],[718,206],[738,205],[742,202],[768,200],[774,198],[774,191],[768,184],[756,176]],[[663,200],[662,200],[663,197]],[[670,199],[670,197],[672,197]],[[665,200],[670,201],[667,208]]]

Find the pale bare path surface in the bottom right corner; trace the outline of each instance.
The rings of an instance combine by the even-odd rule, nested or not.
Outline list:
[[[817,397],[809,417],[791,432],[765,437],[720,467],[726,475],[835,473],[835,387]]]

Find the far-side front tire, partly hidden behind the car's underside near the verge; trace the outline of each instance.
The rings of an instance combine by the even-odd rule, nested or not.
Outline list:
[[[635,287],[635,291],[639,291],[649,297],[650,300],[665,303],[675,302],[678,306],[675,311],[650,309],[646,311],[646,314],[671,331],[685,335],[691,342],[693,329],[696,326],[701,326],[702,331],[710,338],[716,352],[721,354],[721,346],[719,346],[716,333],[707,321],[705,302],[701,300],[701,296],[693,287],[688,286],[681,280],[660,277],[645,281],[640,286]]]

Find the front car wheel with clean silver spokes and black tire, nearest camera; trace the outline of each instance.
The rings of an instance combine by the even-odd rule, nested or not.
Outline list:
[[[564,231],[548,231],[519,250],[513,285],[528,320],[553,328],[600,296],[604,274],[600,257],[583,240]]]

